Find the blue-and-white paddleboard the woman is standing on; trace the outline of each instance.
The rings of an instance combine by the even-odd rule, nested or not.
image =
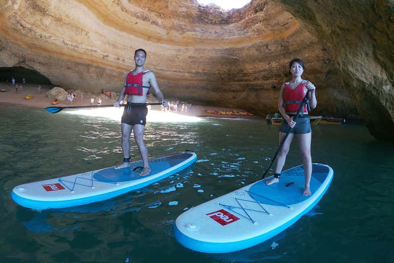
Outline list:
[[[279,183],[260,180],[188,209],[174,223],[176,240],[205,253],[227,253],[260,244],[294,224],[323,197],[332,178],[328,165],[314,163],[304,196],[303,166],[282,172]]]

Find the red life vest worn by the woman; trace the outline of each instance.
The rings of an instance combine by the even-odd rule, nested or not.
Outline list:
[[[305,97],[304,87],[306,84],[307,81],[303,80],[301,84],[294,89],[290,87],[290,82],[284,84],[284,110],[287,113],[295,113],[300,108],[300,104]],[[307,104],[304,105],[304,110],[301,111],[301,113],[308,113]]]

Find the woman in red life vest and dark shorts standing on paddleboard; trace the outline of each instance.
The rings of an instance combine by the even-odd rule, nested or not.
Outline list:
[[[289,63],[290,73],[292,79],[282,85],[279,93],[278,108],[279,112],[283,116],[283,121],[279,129],[279,144],[285,137],[288,127],[291,127],[289,135],[280,149],[278,159],[276,160],[274,178],[267,180],[266,184],[271,185],[279,182],[280,173],[286,160],[287,152],[290,148],[293,137],[297,138],[300,145],[300,151],[304,164],[305,174],[305,188],[303,195],[311,195],[310,182],[312,176],[312,157],[311,157],[311,138],[312,129],[309,121],[307,105],[303,106],[303,109],[298,116],[297,122],[294,122],[294,117],[297,114],[300,104],[307,93],[309,92],[309,106],[313,109],[317,106],[317,100],[315,96],[315,85],[310,81],[303,80],[301,78],[304,73],[304,62],[300,59],[293,59]]]

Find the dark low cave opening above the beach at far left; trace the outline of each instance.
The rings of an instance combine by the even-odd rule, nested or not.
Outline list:
[[[51,81],[39,73],[38,71],[27,69],[25,67],[0,67],[0,81],[11,83],[11,79],[15,78],[15,83],[22,83],[25,78],[26,83],[52,85]]]

